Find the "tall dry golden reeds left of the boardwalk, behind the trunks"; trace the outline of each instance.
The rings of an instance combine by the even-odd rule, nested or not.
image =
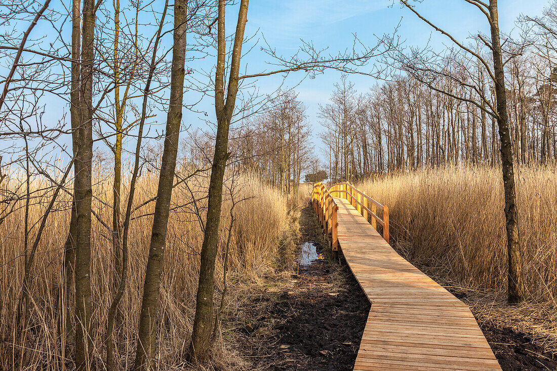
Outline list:
[[[94,186],[93,211],[108,226],[111,225],[111,182],[97,172]],[[157,177],[146,173],[140,180],[136,192],[136,206],[154,197],[157,192]],[[4,187],[17,187],[21,178],[12,177]],[[231,192],[224,195],[222,222],[219,237],[216,282],[222,285],[222,264],[226,246],[227,227],[230,221],[231,196],[241,200],[234,207],[234,223],[229,250],[229,282],[242,284],[257,280],[270,271],[277,261],[280,241],[287,229],[286,199],[273,188],[263,184],[255,175],[240,175],[227,181]],[[199,271],[199,252],[203,241],[202,224],[206,208],[208,178],[196,175],[180,184],[173,191],[167,248],[164,257],[164,273],[159,297],[159,359],[160,369],[182,369],[182,359],[187,350],[190,329],[193,323],[195,293]],[[42,216],[52,191],[44,179],[35,179],[32,189],[37,190],[30,208],[30,221]],[[225,187],[226,188],[226,187]],[[20,191],[21,192],[21,189]],[[123,192],[125,201],[127,189]],[[225,191],[224,193],[227,193]],[[197,202],[192,203],[195,196]],[[61,362],[68,357],[65,344],[73,343],[71,336],[62,333],[58,337],[57,305],[61,284],[62,248],[69,229],[71,198],[61,195],[56,211],[48,216],[37,256],[32,269],[31,319],[26,328],[19,332],[13,328],[16,306],[23,277],[23,233],[25,208],[18,208],[0,225],[0,369],[57,370],[68,368]],[[197,213],[196,213],[197,209]],[[124,296],[121,300],[118,331],[119,360],[122,369],[133,362],[137,319],[140,311],[141,293],[146,261],[148,257],[150,231],[154,202],[141,207],[134,213],[129,232],[129,273]],[[198,216],[201,217],[198,218]],[[31,230],[30,241],[36,234]],[[105,334],[108,307],[114,295],[113,251],[110,232],[99,221],[93,219],[92,226],[92,301],[95,330],[92,333],[97,360],[102,358],[102,340]],[[217,288],[220,291],[220,287]],[[232,289],[233,290],[233,289]],[[219,295],[216,295],[216,300]],[[213,366],[215,368],[241,368],[241,360],[232,357],[225,346],[216,347]],[[238,363],[238,364],[236,364]],[[27,365],[27,367],[22,367]],[[101,368],[102,369],[102,368]]]

